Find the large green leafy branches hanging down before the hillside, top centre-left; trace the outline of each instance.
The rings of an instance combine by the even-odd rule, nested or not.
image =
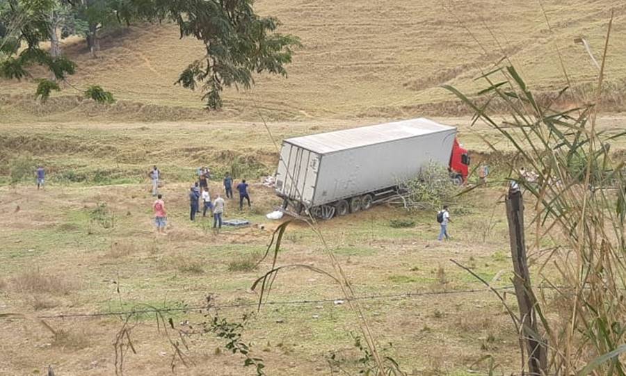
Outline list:
[[[180,74],[177,83],[195,90],[200,87],[208,109],[222,106],[220,93],[234,85],[248,89],[253,73],[287,76],[294,47],[300,40],[276,33],[275,17],[261,17],[252,0],[119,0],[120,19],[169,20],[178,24],[180,37],[193,36],[204,43],[205,54]]]

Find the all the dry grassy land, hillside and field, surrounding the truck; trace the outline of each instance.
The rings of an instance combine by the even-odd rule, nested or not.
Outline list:
[[[556,46],[570,79],[588,85],[597,72],[573,40],[584,36],[598,56],[611,6],[608,95],[613,110],[623,103],[626,7],[614,1],[545,1],[552,31],[539,3],[524,1],[262,0],[257,6],[280,17],[282,31],[299,35],[303,47],[288,79],[262,76],[249,92],[228,90],[220,112],[205,113],[198,92],[172,85],[202,48],[179,40],[171,25],[113,32],[97,59],[82,43],[66,42],[79,65],[72,85],[102,85],[118,98],[111,106],[83,100],[70,87],[38,104],[32,83],[0,82],[0,375],[45,375],[49,365],[62,376],[114,375],[125,316],[110,313],[203,306],[209,295],[222,307],[211,314],[236,322],[252,313],[243,341],[264,359],[268,375],[339,375],[329,366],[332,354],[346,373],[357,374],[363,356],[353,338],[358,320],[347,304],[335,304],[342,293],[330,279],[284,270],[268,297],[284,304],[257,312],[259,295],[250,286],[270,263],[252,265],[280,224],[265,218],[280,200],[259,183],[273,174],[278,158],[268,129],[280,142],[426,116],[458,126],[475,161],[492,158],[483,138],[513,148],[481,124],[470,128],[465,110],[439,86],[476,91],[474,77],[506,54],[534,90],[554,92],[565,85]],[[604,113],[599,129],[616,134],[624,120]],[[623,139],[611,150],[626,155]],[[504,177],[498,161],[489,161],[495,179]],[[45,190],[35,189],[31,170],[11,182],[19,168],[37,163],[47,169]],[[154,164],[164,177],[166,236],[155,234],[152,224],[146,175]],[[215,232],[209,219],[188,220],[186,193],[200,165],[217,177],[213,195],[224,172],[252,182],[252,209],[239,212],[229,200],[226,213],[252,226]],[[449,242],[436,240],[430,211],[383,205],[319,224],[357,295],[385,295],[360,303],[383,353],[408,375],[488,375],[489,361],[475,363],[488,356],[498,375],[519,371],[517,337],[500,302],[449,261],[493,286],[511,284],[503,187],[476,189],[452,204]],[[394,228],[392,220],[415,224]],[[278,263],[332,268],[302,222],[287,228]],[[515,305],[513,295],[507,300]],[[24,317],[6,319],[5,313]],[[104,316],[58,317],[77,313]],[[163,314],[186,332],[207,320],[197,309]],[[166,333],[174,331],[165,332],[154,313],[136,314],[129,325],[136,353],[127,349],[124,374],[171,375],[177,358]],[[187,365],[177,359],[176,374],[255,375],[214,334],[185,340]]]

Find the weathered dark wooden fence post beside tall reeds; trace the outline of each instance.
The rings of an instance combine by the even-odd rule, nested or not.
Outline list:
[[[517,304],[520,306],[520,318],[523,343],[526,345],[529,374],[533,376],[546,375],[546,346],[544,338],[537,331],[537,303],[532,292],[530,275],[524,242],[524,201],[522,192],[517,184],[512,185],[506,195],[506,218],[508,218],[508,234],[511,239],[511,256],[513,257],[513,286]]]

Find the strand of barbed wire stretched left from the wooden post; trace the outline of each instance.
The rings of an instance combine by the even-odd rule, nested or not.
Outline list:
[[[512,290],[513,286],[502,286],[496,287],[495,290]],[[405,293],[395,293],[395,294],[380,294],[380,295],[364,295],[354,297],[352,300],[392,300],[394,298],[399,297],[420,297],[420,296],[428,296],[428,295],[456,295],[456,294],[471,294],[471,293],[489,293],[491,290],[488,288],[474,288],[469,290],[450,290],[450,291],[422,291],[422,292],[405,292]],[[0,313],[0,320],[25,320],[28,318],[37,318],[37,319],[56,319],[56,318],[97,318],[97,317],[106,317],[106,316],[128,316],[128,315],[136,315],[142,313],[157,313],[157,312],[177,312],[177,311],[208,311],[209,309],[236,309],[236,308],[250,308],[250,307],[259,307],[259,306],[278,306],[278,305],[299,305],[299,304],[320,304],[320,303],[330,303],[330,302],[347,302],[349,299],[345,297],[338,297],[335,299],[317,299],[317,300],[278,300],[271,302],[254,302],[254,303],[239,303],[239,304],[210,304],[208,302],[202,306],[177,306],[177,307],[166,307],[166,308],[157,308],[153,306],[149,306],[145,309],[133,309],[130,311],[115,311],[115,312],[99,312],[99,313],[60,313],[58,315],[40,315],[40,316],[24,316],[21,313]],[[15,315],[15,316],[12,316]]]

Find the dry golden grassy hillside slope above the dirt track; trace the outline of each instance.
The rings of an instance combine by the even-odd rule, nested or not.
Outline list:
[[[596,68],[574,39],[586,38],[600,58],[609,9],[615,5],[609,0],[550,1],[545,4],[550,31],[536,2],[258,1],[262,13],[280,17],[282,32],[302,38],[303,48],[289,66],[288,79],[262,76],[250,92],[230,90],[225,110],[212,116],[257,119],[255,106],[271,120],[455,113],[456,105],[433,105],[452,99],[439,86],[451,83],[474,89],[473,79],[481,69],[504,55],[535,89],[559,90],[565,79],[557,47],[570,79],[577,85],[591,83]],[[626,6],[616,7],[615,14],[607,81],[621,103]],[[68,40],[65,51],[79,64],[73,85],[99,83],[123,102],[106,111],[73,97],[33,106],[31,99],[15,96],[32,93],[33,83],[3,82],[0,115],[4,121],[95,114],[111,120],[206,117],[198,92],[173,85],[177,74],[202,56],[198,42],[179,40],[176,26],[131,27],[111,33],[102,40],[97,59],[80,41]],[[75,93],[67,88],[61,95]]]

